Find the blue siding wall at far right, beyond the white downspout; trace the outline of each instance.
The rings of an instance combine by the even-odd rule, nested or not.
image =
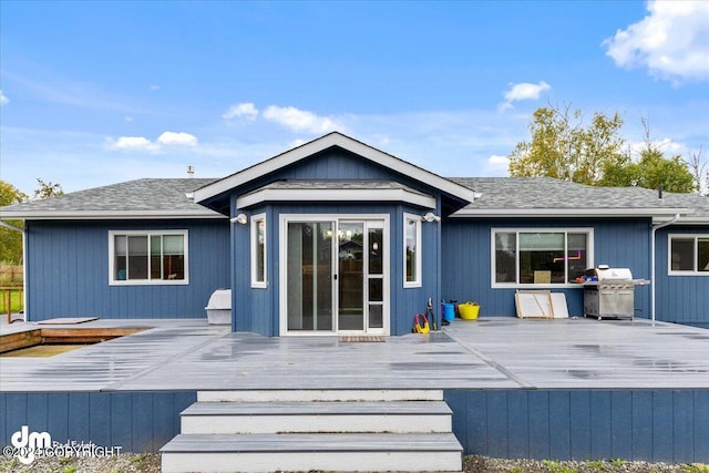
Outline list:
[[[709,227],[668,227],[656,235],[657,320],[709,328],[709,276],[669,276],[669,234],[709,236]]]

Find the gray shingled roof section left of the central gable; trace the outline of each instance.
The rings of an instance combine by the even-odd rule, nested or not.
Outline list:
[[[0,208],[2,218],[220,217],[187,197],[213,178],[145,178]]]

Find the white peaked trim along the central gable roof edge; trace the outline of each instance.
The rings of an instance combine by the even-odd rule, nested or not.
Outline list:
[[[194,199],[196,203],[204,202],[222,193],[228,192],[234,187],[238,187],[253,179],[295,164],[300,160],[309,157],[332,146],[345,148],[351,153],[366,157],[373,163],[408,175],[417,181],[431,185],[440,191],[443,191],[466,202],[475,200],[476,194],[472,189],[449,181],[444,177],[441,177],[438,174],[433,174],[421,167],[414,166],[413,164],[407,163],[405,161],[399,160],[398,157],[373,148],[369,145],[366,145],[364,143],[358,142],[357,140],[353,140],[338,132],[327,134],[322,137],[306,143],[302,146],[295,147],[290,151],[271,157],[270,160],[264,161],[251,167],[247,167],[244,171],[239,171],[238,173],[217,181],[213,184],[208,184],[194,192]]]

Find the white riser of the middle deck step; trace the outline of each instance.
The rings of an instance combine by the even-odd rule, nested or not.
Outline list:
[[[450,415],[183,415],[182,433],[450,432]]]

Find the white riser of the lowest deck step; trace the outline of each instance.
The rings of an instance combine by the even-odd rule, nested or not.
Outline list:
[[[274,471],[460,471],[460,452],[163,453],[163,473]]]

